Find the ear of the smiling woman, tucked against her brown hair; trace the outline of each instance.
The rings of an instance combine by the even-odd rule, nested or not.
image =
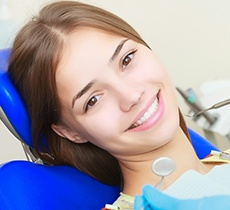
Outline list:
[[[86,142],[88,142],[86,139],[82,138],[78,133],[76,133],[75,131],[67,128],[64,125],[52,124],[51,128],[59,136],[61,136],[63,138],[67,138],[70,141],[73,141],[75,143],[86,143]]]

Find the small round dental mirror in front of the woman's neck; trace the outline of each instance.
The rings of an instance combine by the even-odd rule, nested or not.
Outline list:
[[[164,177],[170,175],[176,168],[175,162],[168,157],[160,157],[152,164],[152,171],[157,176],[161,176],[161,180],[156,184],[155,188],[160,189]]]

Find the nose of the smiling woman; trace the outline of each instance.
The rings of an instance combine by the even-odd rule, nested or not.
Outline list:
[[[117,93],[121,110],[127,112],[141,100],[144,87],[141,84],[123,81],[117,86]]]

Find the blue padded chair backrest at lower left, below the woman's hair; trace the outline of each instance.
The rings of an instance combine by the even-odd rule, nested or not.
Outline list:
[[[99,210],[118,195],[119,188],[68,166],[11,161],[0,168],[2,210]]]

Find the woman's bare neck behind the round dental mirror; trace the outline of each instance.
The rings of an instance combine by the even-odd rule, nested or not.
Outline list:
[[[161,148],[155,149],[144,155],[138,161],[120,162],[124,176],[123,193],[130,196],[141,194],[145,184],[155,186],[161,177],[152,172],[152,163],[159,157],[169,157],[176,163],[175,171],[164,178],[161,190],[169,187],[176,179],[187,170],[195,170],[199,173],[207,173],[206,167],[196,156],[195,151],[181,129],[176,137]],[[134,184],[135,183],[135,184]]]

